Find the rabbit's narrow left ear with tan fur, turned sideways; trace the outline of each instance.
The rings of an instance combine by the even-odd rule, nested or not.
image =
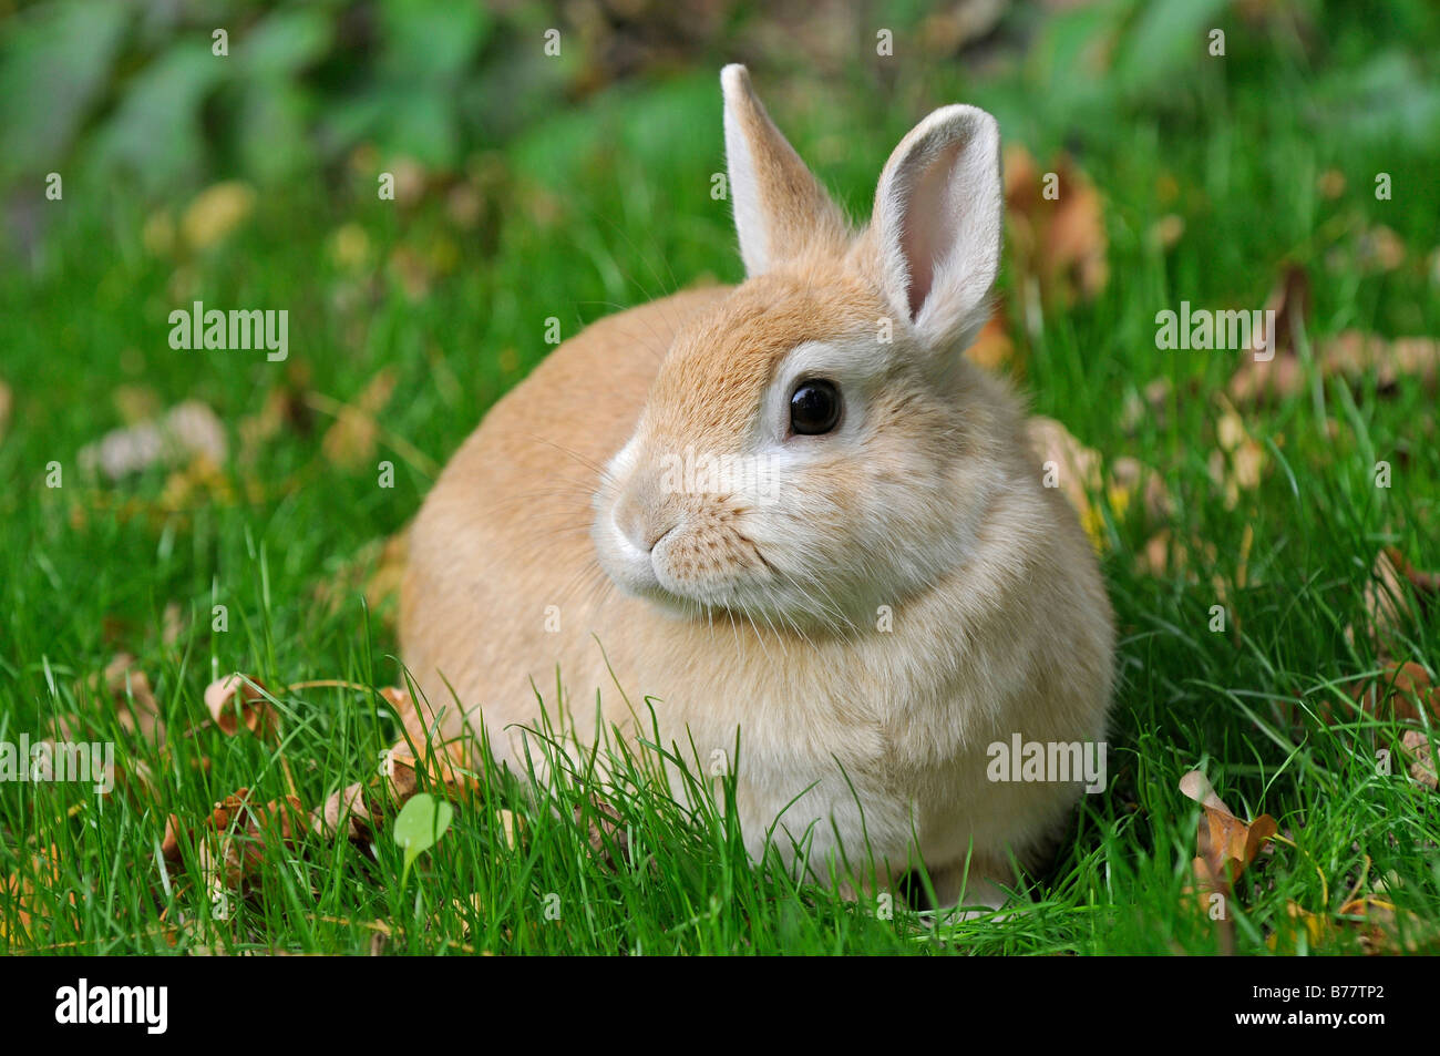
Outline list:
[[[785,141],[750,89],[750,72],[720,71],[730,199],[747,275],[760,275],[808,245],[845,246],[840,209]]]

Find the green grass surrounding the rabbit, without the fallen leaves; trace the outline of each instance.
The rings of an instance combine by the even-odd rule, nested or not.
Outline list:
[[[801,154],[858,215],[884,157],[933,105],[992,108],[1007,138],[1043,166],[1060,146],[1076,151],[1106,199],[1110,281],[1094,303],[1053,305],[1040,327],[1015,334],[1024,388],[1037,412],[1107,460],[1155,467],[1174,503],[1165,524],[1214,547],[1191,555],[1191,575],[1142,572],[1138,555],[1162,524],[1139,501],[1103,506],[1120,627],[1112,782],[1086,798],[1056,864],[1027,877],[1008,919],[932,926],[903,906],[887,919],[874,905],[756,869],[720,814],[688,815],[655,791],[645,765],[634,788],[606,791],[631,843],[618,867],[592,851],[588,823],[573,821],[590,791],[583,775],[559,802],[523,778],[487,781],[405,887],[393,810],[373,860],[315,837],[269,847],[252,893],[223,921],[189,850],[173,877],[161,866],[167,814],[203,818],[240,787],[262,802],[284,795],[281,756],[307,807],[374,772],[399,728],[372,692],[278,693],[282,749],[204,726],[202,693],[230,670],[268,686],[402,681],[393,611],[372,611],[361,591],[377,540],[405,524],[435,467],[544,356],[544,320],[559,317],[570,336],[616,307],[740,277],[727,206],[708,193],[723,160],[719,88],[704,65],[616,86],[501,154],[477,156],[461,179],[481,187],[488,207],[469,229],[448,216],[444,193],[402,209],[376,200],[370,170],[350,167],[262,187],[253,215],[194,256],[157,255],[141,238],[154,210],[176,215],[186,196],[140,202],[124,187],[71,179],[62,203],[40,206],[48,231],[35,258],[12,261],[0,278],[0,380],[14,390],[0,439],[0,740],[86,715],[91,738],[118,742],[122,769],[148,762],[153,792],[102,801],[66,785],[0,787],[0,877],[36,887],[27,931],[17,902],[0,899],[0,951],[364,952],[379,921],[392,952],[1217,952],[1215,928],[1182,893],[1197,807],[1178,782],[1192,768],[1237,814],[1269,813],[1290,840],[1240,885],[1241,952],[1267,949],[1270,932],[1286,928],[1287,903],[1329,916],[1374,877],[1390,877],[1395,903],[1433,941],[1434,792],[1408,784],[1403,765],[1377,772],[1374,749],[1391,743],[1392,725],[1326,726],[1316,709],[1345,699],[1344,680],[1380,670],[1368,637],[1346,635],[1365,627],[1362,591],[1380,547],[1440,568],[1434,392],[1416,379],[1380,392],[1374,380],[1352,390],[1316,376],[1284,402],[1243,409],[1266,473],[1227,509],[1207,462],[1218,393],[1238,357],[1156,350],[1153,317],[1181,300],[1260,307],[1282,264],[1296,262],[1315,292],[1305,350],[1349,327],[1440,334],[1427,264],[1440,232],[1440,143],[1433,127],[1384,120],[1395,109],[1387,92],[1404,79],[1395,62],[1401,71],[1420,62],[1423,40],[1437,39],[1434,19],[1362,23],[1341,13],[1323,23],[1328,43],[1306,49],[1284,30],[1227,16],[1223,63],[1191,58],[1139,88],[1102,91],[1066,59],[1089,17],[1056,19],[1050,50],[991,78],[909,63],[883,89],[855,76],[806,92],[811,75],[756,72]],[[1423,108],[1433,89],[1427,97],[1418,84],[1403,95]],[[1335,200],[1315,190],[1329,169],[1346,179]],[[1390,202],[1371,193],[1377,171],[1392,176]],[[1162,200],[1168,180],[1178,190]],[[1185,233],[1162,251],[1146,232],[1172,212]],[[354,269],[330,252],[344,223],[370,245]],[[1374,225],[1405,243],[1401,268],[1365,271],[1348,254]],[[432,262],[423,297],[408,295],[386,265],[397,249]],[[288,308],[291,363],[171,352],[166,317],[190,300]],[[300,364],[308,379],[294,375]],[[380,370],[395,372],[379,415],[384,432],[374,457],[353,467],[325,455],[331,419],[312,409],[308,426],[287,426],[223,467],[223,487],[177,501],[166,497],[163,470],[108,484],[76,468],[84,444],[122,424],[122,386],[158,406],[204,401],[238,452],[240,421],[276,389],[348,402]],[[1123,401],[1158,377],[1175,395],[1128,428]],[[396,465],[393,488],[376,486],[380,458]],[[1377,460],[1394,467],[1390,490],[1374,487]],[[50,461],[63,467],[62,488],[45,487]],[[323,585],[338,604],[317,596]],[[167,643],[171,604],[183,628]],[[229,612],[223,634],[210,630],[216,604]],[[1215,604],[1228,609],[1221,634],[1208,630]],[[1405,628],[1405,640],[1408,655],[1397,658],[1434,671],[1437,621]],[[163,704],[166,752],[118,732],[108,700],[86,687],[121,650],[135,654]],[[664,696],[660,686],[639,689]],[[1292,723],[1279,706],[1295,699]],[[514,849],[501,810],[524,820]],[[58,879],[42,876],[33,854],[52,843]],[[559,919],[547,919],[554,906]],[[1358,949],[1345,939],[1326,948]]]

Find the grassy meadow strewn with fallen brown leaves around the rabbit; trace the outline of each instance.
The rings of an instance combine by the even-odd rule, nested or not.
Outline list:
[[[1423,764],[1440,716],[1440,582],[1423,575],[1440,569],[1440,16],[1017,6],[945,52],[943,26],[904,7],[841,20],[835,53],[811,53],[804,33],[746,36],[766,16],[737,10],[681,59],[575,98],[537,109],[517,86],[514,127],[448,163],[361,137],[284,176],[216,154],[157,189],[89,164],[85,140],[62,197],[36,173],[7,199],[0,742],[112,742],[118,784],[0,784],[0,952],[1440,949]],[[517,24],[539,52],[544,17]],[[580,774],[557,792],[524,775],[456,791],[422,766],[454,820],[409,866],[393,838],[377,761],[403,730],[380,692],[405,684],[395,540],[550,352],[549,320],[570,336],[742,278],[711,196],[736,42],[857,219],[929,109],[1001,124],[1005,269],[975,354],[1063,425],[1120,641],[1107,788],[1004,919],[881,912],[756,866],[723,810],[677,805],[644,759],[621,788]],[[170,313],[194,301],[287,310],[285,359],[173,347]],[[1156,316],[1182,301],[1274,308],[1276,359],[1159,347]],[[137,439],[187,403],[181,454]],[[206,707],[230,671],[266,687],[253,730]],[[1182,791],[1191,771],[1241,828],[1274,820],[1221,885],[1223,921],[1195,890],[1214,821]],[[312,831],[354,782],[360,828]],[[217,815],[239,789],[251,805]]]

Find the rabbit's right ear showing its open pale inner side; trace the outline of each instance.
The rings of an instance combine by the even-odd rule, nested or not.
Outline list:
[[[1004,202],[999,127],[975,107],[930,114],[880,174],[871,235],[881,282],[932,349],[969,344],[985,324]]]

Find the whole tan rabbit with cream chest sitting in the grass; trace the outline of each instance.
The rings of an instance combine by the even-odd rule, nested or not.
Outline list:
[[[995,746],[1100,743],[1115,631],[1018,398],[963,356],[996,121],[926,117],[854,231],[746,68],[720,82],[744,279],[590,324],[491,408],[409,530],[402,660],[481,762],[534,765],[552,707],[576,745],[658,736],[734,769],[756,862],[851,898],[923,863],[1001,906],[1080,784],[996,781]]]

